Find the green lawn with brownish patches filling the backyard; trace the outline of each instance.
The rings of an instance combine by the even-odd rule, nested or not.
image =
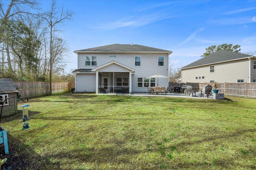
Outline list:
[[[256,169],[256,100],[62,94],[2,118],[28,169]]]

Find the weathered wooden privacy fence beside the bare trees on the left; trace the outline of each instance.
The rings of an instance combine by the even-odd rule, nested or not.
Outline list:
[[[13,81],[18,88],[21,98],[29,98],[35,96],[45,96],[50,92],[49,82],[24,82]],[[71,92],[75,88],[75,83],[52,83],[52,94],[60,94]]]

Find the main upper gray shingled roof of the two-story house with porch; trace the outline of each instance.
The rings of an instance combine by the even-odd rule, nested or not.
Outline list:
[[[101,47],[94,47],[90,49],[82,49],[77,50],[74,52],[169,52],[172,53],[172,51],[163,50],[163,49],[156,49],[153,47],[146,47],[143,45],[136,45],[136,44],[112,44],[112,45],[104,45]]]

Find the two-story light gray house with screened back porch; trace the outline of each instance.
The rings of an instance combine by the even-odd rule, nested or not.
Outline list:
[[[74,51],[78,69],[76,92],[148,92],[156,86],[154,74],[168,77],[172,51],[133,44],[112,44]],[[168,86],[168,78],[159,78],[158,86]]]

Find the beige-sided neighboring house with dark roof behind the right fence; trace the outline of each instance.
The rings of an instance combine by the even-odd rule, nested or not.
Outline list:
[[[219,50],[180,70],[181,82],[256,82],[256,57]]]

